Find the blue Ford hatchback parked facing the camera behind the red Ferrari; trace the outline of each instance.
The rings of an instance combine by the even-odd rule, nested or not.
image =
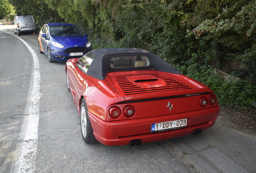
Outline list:
[[[80,58],[93,50],[87,36],[74,24],[47,23],[39,33],[39,52],[45,53],[49,62]]]

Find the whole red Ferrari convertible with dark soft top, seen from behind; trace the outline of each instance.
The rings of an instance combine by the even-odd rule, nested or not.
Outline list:
[[[66,62],[86,143],[140,145],[201,133],[215,124],[213,91],[142,49],[91,50]]]

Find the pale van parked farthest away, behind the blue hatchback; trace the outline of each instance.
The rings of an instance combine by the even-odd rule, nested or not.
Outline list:
[[[37,24],[33,16],[15,16],[13,24],[13,32],[20,36],[24,32],[33,32],[37,34]]]

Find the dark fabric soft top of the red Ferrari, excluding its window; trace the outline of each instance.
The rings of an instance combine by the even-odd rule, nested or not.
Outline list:
[[[91,62],[87,74],[99,80],[104,80],[108,72],[114,71],[157,70],[181,74],[173,66],[165,62],[165,60],[147,50],[137,48],[103,48],[91,50],[90,52],[95,55],[95,58]],[[111,68],[111,58],[119,56],[147,56],[150,65],[136,68]]]

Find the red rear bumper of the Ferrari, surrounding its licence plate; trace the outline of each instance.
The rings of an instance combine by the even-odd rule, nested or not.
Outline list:
[[[140,139],[142,143],[161,141],[189,135],[194,129],[208,129],[215,124],[219,115],[219,106],[188,113],[131,119],[123,121],[103,121],[88,112],[93,134],[97,141],[104,145],[127,145],[130,141]],[[151,132],[153,123],[188,119],[188,125],[182,129],[163,132]]]

